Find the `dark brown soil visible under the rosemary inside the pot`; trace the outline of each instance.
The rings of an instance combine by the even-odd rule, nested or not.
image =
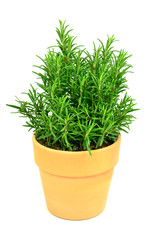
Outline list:
[[[45,147],[49,147],[49,148],[52,148],[52,149],[56,149],[56,150],[64,150],[62,149],[61,145],[59,142],[56,142],[54,145],[48,145],[47,143],[47,140],[46,139],[41,139],[41,140],[37,140],[41,145],[45,146]],[[107,146],[110,146],[111,144],[113,144],[114,142],[113,141],[108,141],[107,143],[103,143],[101,147],[98,147],[97,149],[100,149],[100,148],[104,148],[104,147],[107,147]],[[73,144],[72,144],[73,145]],[[95,150],[95,143],[91,143],[91,146],[90,146],[90,149],[91,150]],[[73,148],[73,150],[70,150],[69,148],[65,148],[64,151],[87,151],[87,149],[83,149],[82,147],[82,143],[75,143],[75,146]]]

